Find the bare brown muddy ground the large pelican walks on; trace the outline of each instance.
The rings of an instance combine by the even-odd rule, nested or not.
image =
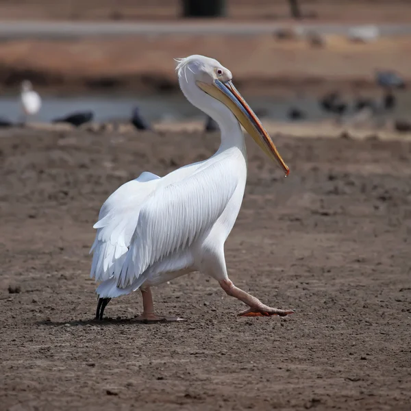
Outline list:
[[[250,143],[227,266],[296,313],[240,319],[193,274],[155,289],[188,322],[138,325],[138,293],[92,321],[99,207],[143,170],[206,158],[218,136],[2,131],[2,409],[409,410],[411,143],[276,141],[291,175]]]

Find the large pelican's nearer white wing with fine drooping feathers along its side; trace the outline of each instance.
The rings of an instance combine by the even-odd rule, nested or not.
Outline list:
[[[149,268],[173,260],[169,271],[184,268],[179,261],[197,238],[206,235],[225,210],[237,186],[235,173],[221,162],[199,169],[179,182],[151,192],[140,208],[136,230],[117,286],[134,289],[151,273]]]

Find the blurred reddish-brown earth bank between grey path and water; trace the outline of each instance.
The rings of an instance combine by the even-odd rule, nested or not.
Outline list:
[[[203,54],[231,69],[247,93],[375,90],[376,69],[410,79],[410,53],[409,37],[358,44],[328,36],[323,48],[273,36],[14,40],[0,43],[0,87],[16,89],[29,78],[53,92],[167,92],[178,88],[173,58]]]

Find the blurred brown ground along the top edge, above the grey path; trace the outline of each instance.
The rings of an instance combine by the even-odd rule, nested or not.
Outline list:
[[[301,11],[314,21],[410,21],[408,0],[300,0]],[[37,20],[164,20],[182,14],[181,0],[0,0],[0,16]],[[230,20],[284,20],[287,0],[226,0]]]

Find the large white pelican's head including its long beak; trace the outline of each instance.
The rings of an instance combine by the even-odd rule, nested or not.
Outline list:
[[[261,149],[288,175],[288,166],[279,155],[273,140],[234,87],[231,71],[217,60],[203,55],[190,55],[176,61],[179,85],[188,101],[214,119],[234,114]]]

